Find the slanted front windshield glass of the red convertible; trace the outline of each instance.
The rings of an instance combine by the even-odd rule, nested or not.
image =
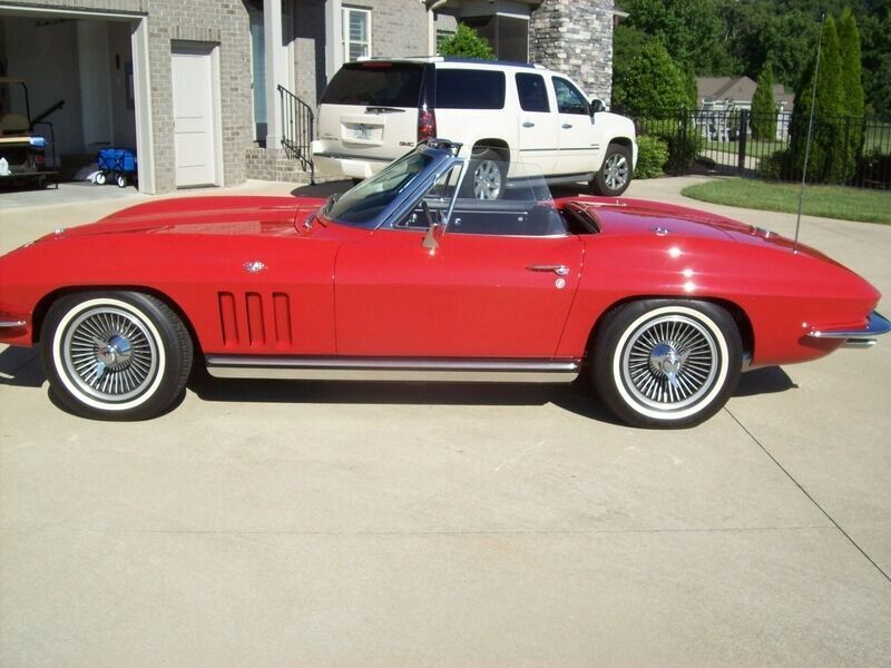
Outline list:
[[[326,218],[352,227],[376,227],[382,214],[435,158],[425,151],[405,154],[375,176],[326,205]]]

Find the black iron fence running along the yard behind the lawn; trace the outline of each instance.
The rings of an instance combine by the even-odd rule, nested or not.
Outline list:
[[[668,148],[672,174],[714,170],[776,180],[800,180],[807,118],[746,109],[684,110],[635,119],[639,136]],[[891,121],[814,118],[807,180],[861,188],[891,188]]]

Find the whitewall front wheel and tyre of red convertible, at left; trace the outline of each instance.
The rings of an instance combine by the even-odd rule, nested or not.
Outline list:
[[[40,336],[50,387],[85,418],[155,418],[182,395],[192,369],[183,321],[143,293],[63,296],[47,313]]]

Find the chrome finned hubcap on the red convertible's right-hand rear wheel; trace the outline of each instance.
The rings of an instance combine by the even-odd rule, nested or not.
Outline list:
[[[623,381],[642,404],[678,410],[714,386],[718,371],[715,337],[702,323],[667,315],[645,323],[628,338]]]

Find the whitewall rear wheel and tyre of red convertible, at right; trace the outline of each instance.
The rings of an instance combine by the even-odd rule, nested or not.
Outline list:
[[[733,317],[707,302],[645,299],[607,316],[594,343],[597,392],[623,421],[693,426],[719,411],[740,380]]]

